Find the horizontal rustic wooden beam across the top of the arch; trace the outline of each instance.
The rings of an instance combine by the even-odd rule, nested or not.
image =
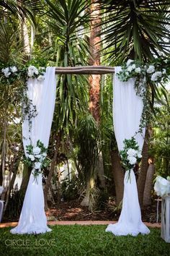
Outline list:
[[[55,74],[111,74],[114,72],[114,67],[104,66],[55,67]]]

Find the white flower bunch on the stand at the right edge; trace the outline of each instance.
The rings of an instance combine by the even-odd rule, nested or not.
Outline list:
[[[166,179],[164,179],[161,176],[156,177],[156,182],[154,184],[154,190],[156,192],[156,195],[158,197],[164,197],[166,195],[170,194],[170,176],[167,176]]]

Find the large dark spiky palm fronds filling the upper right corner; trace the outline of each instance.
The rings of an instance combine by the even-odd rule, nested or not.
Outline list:
[[[98,0],[109,61],[147,61],[169,54],[169,0]]]

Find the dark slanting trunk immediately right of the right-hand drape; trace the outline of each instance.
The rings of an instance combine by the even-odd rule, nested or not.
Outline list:
[[[148,128],[146,128],[146,135],[145,135],[145,141],[143,144],[143,157],[142,157],[142,163],[141,163],[141,168],[140,168],[140,173],[138,176],[138,181],[137,181],[137,187],[138,187],[138,197],[139,197],[139,203],[140,207],[143,207],[143,192],[145,189],[145,184],[146,184],[146,174],[148,171]]]

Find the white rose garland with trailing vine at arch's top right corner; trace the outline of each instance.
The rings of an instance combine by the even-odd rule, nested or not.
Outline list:
[[[164,84],[170,79],[170,59],[155,59],[146,64],[129,59],[121,68],[122,70],[117,73],[119,80],[127,82],[134,77],[135,92],[143,100],[143,112],[138,130],[142,133],[151,119],[151,93],[154,94],[156,91],[158,93],[158,86],[164,88]]]

